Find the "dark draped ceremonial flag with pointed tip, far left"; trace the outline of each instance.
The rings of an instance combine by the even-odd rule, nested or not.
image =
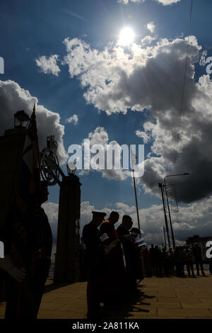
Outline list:
[[[16,208],[13,218],[13,246],[24,264],[30,260],[30,239],[28,237],[33,214],[40,197],[40,149],[37,136],[35,106],[28,124],[20,177],[16,193]]]

